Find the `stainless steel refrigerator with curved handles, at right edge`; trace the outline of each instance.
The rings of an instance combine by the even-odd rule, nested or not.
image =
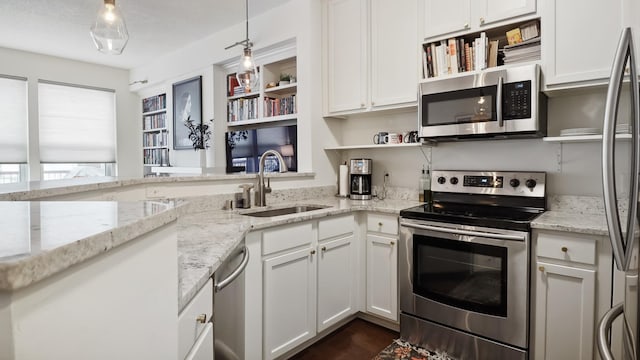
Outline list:
[[[640,170],[640,103],[630,28],[623,30],[607,90],[602,129],[602,182],[605,214],[615,267],[624,273],[623,301],[600,319],[598,350],[603,360],[640,359],[638,352],[638,171]],[[631,128],[631,141],[616,136],[619,125]],[[628,137],[628,136],[627,136]],[[621,276],[622,277],[622,276]],[[612,324],[620,323],[622,349],[613,349]],[[613,345],[615,348],[616,345]]]

